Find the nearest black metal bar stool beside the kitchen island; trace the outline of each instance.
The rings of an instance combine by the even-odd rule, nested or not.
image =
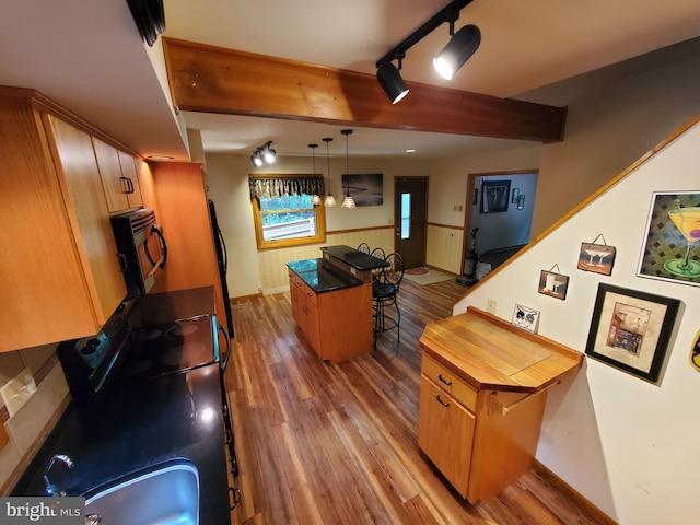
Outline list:
[[[398,310],[396,298],[404,279],[404,258],[400,254],[393,253],[387,255],[385,260],[389,266],[382,268],[378,277],[372,281],[375,350],[377,335],[394,328],[396,328],[398,342],[401,342],[401,312]],[[396,313],[392,311],[392,306]]]

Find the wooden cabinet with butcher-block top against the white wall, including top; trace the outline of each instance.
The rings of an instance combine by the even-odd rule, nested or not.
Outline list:
[[[471,503],[532,466],[547,392],[583,354],[480,310],[425,326],[418,445]]]

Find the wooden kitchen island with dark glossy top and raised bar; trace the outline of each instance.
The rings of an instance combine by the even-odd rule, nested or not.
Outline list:
[[[318,357],[338,363],[372,351],[372,270],[387,264],[349,246],[320,249],[287,264],[292,313]]]

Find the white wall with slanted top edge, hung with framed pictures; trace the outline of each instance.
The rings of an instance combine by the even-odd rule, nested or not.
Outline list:
[[[652,191],[700,192],[700,125],[472,289],[455,305],[511,319],[515,303],[541,312],[539,334],[584,351],[598,283],[681,301],[657,384],[587,359],[551,390],[537,458],[620,524],[697,522],[700,374],[689,364],[700,328],[697,287],[637,277]],[[617,247],[610,277],[576,269],[581,242],[603,233]],[[700,249],[700,247],[696,247]],[[539,271],[558,264],[570,277],[565,301],[537,292]]]

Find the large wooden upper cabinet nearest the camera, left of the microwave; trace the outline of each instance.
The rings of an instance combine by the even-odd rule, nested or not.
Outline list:
[[[126,295],[91,136],[55,115],[0,88],[0,351],[93,335]]]

